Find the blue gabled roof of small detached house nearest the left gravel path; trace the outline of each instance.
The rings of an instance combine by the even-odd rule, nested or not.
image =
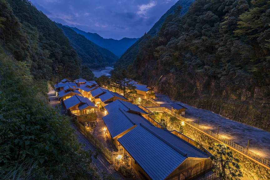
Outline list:
[[[70,109],[71,107],[78,105],[79,110],[83,110],[87,107],[90,108],[97,108],[96,105],[94,105],[94,103],[92,103],[92,101],[90,101],[88,98],[83,97],[83,96],[79,96],[79,95],[74,95],[66,100],[63,101],[66,109]]]

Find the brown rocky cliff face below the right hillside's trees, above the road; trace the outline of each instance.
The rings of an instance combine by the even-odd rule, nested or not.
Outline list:
[[[155,92],[270,131],[270,87],[253,87],[248,79],[217,80],[195,74],[181,77],[173,73],[162,75],[159,74],[162,70],[158,66],[150,64],[145,64],[139,70],[139,75],[144,77],[143,83],[148,83]]]

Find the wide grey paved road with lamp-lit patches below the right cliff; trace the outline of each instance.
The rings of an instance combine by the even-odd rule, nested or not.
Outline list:
[[[208,110],[194,108],[181,102],[173,101],[168,95],[156,93],[156,101],[161,104],[160,106],[167,109],[171,109],[170,104],[174,102],[185,106],[188,109],[185,115],[187,119],[197,123],[198,117],[201,117],[199,125],[215,133],[217,133],[217,127],[222,126],[219,128],[218,134],[236,142],[242,147],[247,148],[248,140],[252,139],[248,149],[270,160],[270,132],[232,121]]]

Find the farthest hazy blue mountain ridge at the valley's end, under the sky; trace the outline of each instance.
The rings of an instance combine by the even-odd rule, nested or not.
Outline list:
[[[73,27],[69,28],[72,28],[78,34],[84,35],[85,38],[89,39],[90,41],[99,45],[100,47],[109,49],[112,53],[114,53],[118,57],[121,57],[121,55],[124,54],[125,51],[139,39],[139,38],[123,38],[120,40],[104,39],[97,33],[86,33],[78,28]]]

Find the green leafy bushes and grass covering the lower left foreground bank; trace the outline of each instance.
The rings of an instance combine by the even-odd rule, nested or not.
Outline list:
[[[69,118],[50,107],[26,62],[0,54],[0,179],[94,175],[92,152],[77,142]]]

